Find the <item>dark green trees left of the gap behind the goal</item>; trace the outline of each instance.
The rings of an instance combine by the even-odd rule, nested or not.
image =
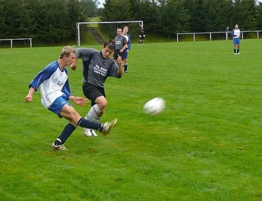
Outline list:
[[[97,7],[97,0],[0,0],[0,39],[70,41],[75,24],[97,15]]]

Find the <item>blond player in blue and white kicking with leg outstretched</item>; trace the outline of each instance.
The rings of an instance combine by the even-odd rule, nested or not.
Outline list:
[[[72,100],[75,104],[84,106],[87,102],[83,97],[73,96],[69,88],[68,71],[65,67],[73,64],[74,59],[75,49],[70,46],[64,47],[59,59],[48,64],[30,82],[29,92],[26,96],[26,102],[31,102],[34,92],[40,87],[43,106],[57,114],[58,117],[63,117],[70,121],[70,123],[64,127],[60,136],[51,145],[51,148],[54,150],[66,150],[63,144],[77,126],[96,129],[107,135],[117,123],[117,119],[105,124],[85,120],[74,110],[72,105],[68,103],[68,100]]]

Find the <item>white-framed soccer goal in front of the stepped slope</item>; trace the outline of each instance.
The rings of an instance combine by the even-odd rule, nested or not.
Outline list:
[[[123,29],[124,26],[129,27],[128,34],[131,41],[138,41],[139,29],[143,27],[143,21],[78,22],[76,23],[76,44],[78,46],[103,44],[109,39],[114,39],[117,29]]]

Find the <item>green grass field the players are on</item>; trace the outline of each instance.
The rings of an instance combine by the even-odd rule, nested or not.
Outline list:
[[[50,148],[67,121],[40,92],[25,102],[61,47],[0,49],[0,200],[262,200],[261,44],[243,40],[237,56],[231,41],[132,44],[129,74],[106,82],[102,120],[117,127],[97,138],[78,128],[68,151]],[[166,109],[143,114],[157,96]]]

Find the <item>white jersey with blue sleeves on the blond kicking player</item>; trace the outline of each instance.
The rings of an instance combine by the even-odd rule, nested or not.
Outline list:
[[[33,87],[35,91],[40,87],[41,102],[46,109],[54,103],[56,98],[65,95],[68,99],[71,95],[68,71],[66,68],[61,70],[58,61],[54,61],[42,69],[30,82],[30,87]]]

